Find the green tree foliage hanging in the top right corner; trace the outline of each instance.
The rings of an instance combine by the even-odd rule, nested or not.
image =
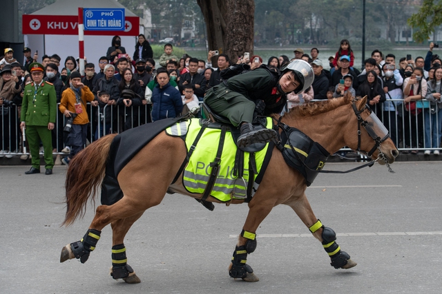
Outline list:
[[[424,0],[419,12],[413,14],[407,23],[414,28],[414,41],[427,41],[434,29],[442,24],[442,1]]]

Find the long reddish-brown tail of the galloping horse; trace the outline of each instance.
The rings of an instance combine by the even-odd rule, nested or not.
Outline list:
[[[95,194],[104,178],[106,161],[115,136],[117,134],[104,136],[70,160],[65,183],[66,218],[62,226],[73,224],[79,216],[84,217],[89,198],[95,205]]]

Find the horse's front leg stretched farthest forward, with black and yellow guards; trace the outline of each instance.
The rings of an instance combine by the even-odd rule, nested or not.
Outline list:
[[[325,227],[311,210],[310,203],[305,194],[298,200],[294,200],[289,204],[294,209],[299,218],[309,228],[311,233],[318,239],[329,255],[330,263],[335,269],[350,269],[356,266],[356,262],[350,259],[350,255],[340,250],[340,246],[336,243],[336,233],[333,229]]]

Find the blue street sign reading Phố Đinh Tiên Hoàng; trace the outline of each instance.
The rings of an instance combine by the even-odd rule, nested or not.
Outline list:
[[[124,8],[83,8],[84,30],[124,31]]]

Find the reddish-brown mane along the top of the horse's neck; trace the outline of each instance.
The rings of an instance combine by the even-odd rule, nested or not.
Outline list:
[[[290,111],[286,112],[283,117],[293,119],[299,116],[312,116],[316,114],[323,114],[325,112],[329,112],[330,110],[336,109],[341,105],[349,104],[353,101],[353,99],[358,100],[358,98],[354,98],[351,94],[346,94],[345,96],[340,98],[333,98],[331,100],[302,104],[297,107],[291,108]]]

